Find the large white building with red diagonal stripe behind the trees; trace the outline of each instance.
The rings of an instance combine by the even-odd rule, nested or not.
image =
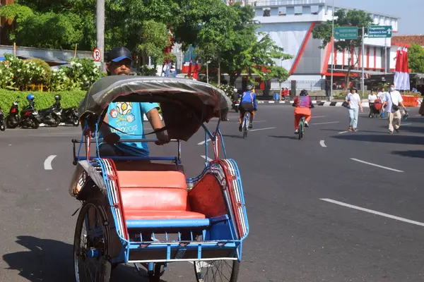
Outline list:
[[[312,38],[315,25],[331,20],[333,7],[331,1],[325,0],[245,0],[252,5],[259,21],[259,31],[268,33],[271,38],[283,47],[285,53],[294,58],[277,61],[290,71],[290,78],[283,87],[290,87],[291,80],[296,80],[297,89],[324,90],[325,80],[330,80],[331,73],[331,44],[325,49],[319,49],[320,39]],[[337,11],[344,7],[335,7]],[[344,8],[349,10],[351,8]],[[398,18],[395,16],[370,13],[375,25],[391,25],[393,32],[398,30]],[[358,31],[360,32],[360,31]],[[365,54],[362,59],[360,48],[351,51],[353,60],[349,62],[347,52],[334,52],[334,81],[344,77],[349,63],[358,61],[353,70],[353,76],[360,75],[362,67],[365,73],[384,73],[394,71],[397,47],[391,47],[391,39],[365,38]],[[387,56],[385,55],[387,49]],[[271,89],[278,89],[272,83]]]

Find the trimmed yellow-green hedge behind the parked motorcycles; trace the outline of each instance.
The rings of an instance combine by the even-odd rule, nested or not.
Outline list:
[[[8,115],[9,109],[13,101],[17,99],[19,103],[19,109],[23,109],[25,106],[28,106],[28,101],[26,97],[28,94],[34,94],[35,96],[35,107],[36,109],[46,109],[54,104],[54,95],[61,95],[61,106],[62,108],[68,108],[71,106],[78,106],[79,102],[86,95],[86,91],[74,90],[74,91],[64,91],[64,92],[23,92],[23,91],[9,91],[0,89],[0,107],[3,109],[4,113]]]

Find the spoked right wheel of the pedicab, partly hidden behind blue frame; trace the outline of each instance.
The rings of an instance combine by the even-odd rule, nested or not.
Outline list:
[[[237,260],[220,259],[210,262],[194,262],[197,282],[236,282],[239,269],[240,262]]]

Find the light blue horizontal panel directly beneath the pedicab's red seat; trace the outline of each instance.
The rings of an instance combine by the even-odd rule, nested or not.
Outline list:
[[[206,228],[209,219],[127,220],[127,228]]]

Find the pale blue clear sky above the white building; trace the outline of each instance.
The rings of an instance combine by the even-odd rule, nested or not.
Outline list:
[[[326,0],[332,5],[333,0]],[[334,6],[382,13],[401,18],[396,35],[424,35],[424,0],[334,0]]]

